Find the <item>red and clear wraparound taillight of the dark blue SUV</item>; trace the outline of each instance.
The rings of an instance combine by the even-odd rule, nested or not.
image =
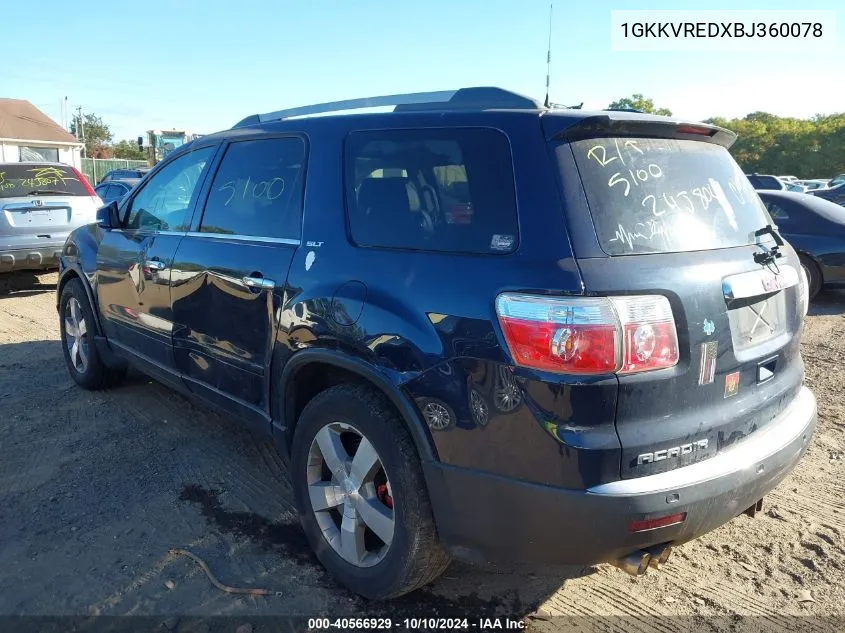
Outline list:
[[[496,312],[516,364],[567,374],[672,367],[678,336],[666,297],[541,297],[503,293]]]

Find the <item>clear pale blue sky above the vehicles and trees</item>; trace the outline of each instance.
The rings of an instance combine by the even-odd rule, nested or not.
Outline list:
[[[828,53],[613,52],[618,9],[836,10]],[[81,106],[115,139],[211,133],[249,114],[381,94],[499,86],[545,93],[548,0],[0,0],[0,97],[59,123]],[[557,0],[551,100],[635,92],[682,118],[845,111],[845,0]]]

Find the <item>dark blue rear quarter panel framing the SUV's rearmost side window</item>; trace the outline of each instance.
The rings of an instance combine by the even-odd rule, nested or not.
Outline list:
[[[394,120],[395,127],[431,127],[430,115]],[[356,129],[386,127],[383,122],[360,118]],[[478,113],[443,117],[443,127],[493,127],[510,140],[520,246],[509,255],[354,246],[346,231],[342,162],[348,123],[321,123],[303,123],[311,147],[303,247],[288,277],[277,353],[339,350],[373,367],[418,408],[430,400],[444,403],[452,422],[428,432],[446,463],[574,487],[601,479],[605,464],[618,477],[615,378],[587,384],[514,369],[495,315],[495,298],[504,291],[581,293],[536,113],[491,114],[483,123]],[[363,292],[349,296],[346,289],[358,284]],[[510,390],[516,400],[497,406],[497,389]],[[473,390],[488,410],[483,423],[473,418]],[[579,427],[592,433],[567,434]],[[580,459],[576,444],[590,442],[601,459]]]

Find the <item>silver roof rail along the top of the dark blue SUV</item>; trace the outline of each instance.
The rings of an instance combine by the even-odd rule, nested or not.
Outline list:
[[[253,114],[243,119],[235,127],[244,127],[255,123],[278,121],[293,117],[342,112],[345,110],[359,110],[362,108],[377,108],[394,106],[394,112],[420,110],[460,110],[460,109],[514,109],[514,110],[543,110],[545,107],[539,102],[502,88],[460,88],[458,90],[441,90],[438,92],[412,92],[408,94],[383,95],[378,97],[364,97],[347,101],[332,101],[277,110],[266,114]]]

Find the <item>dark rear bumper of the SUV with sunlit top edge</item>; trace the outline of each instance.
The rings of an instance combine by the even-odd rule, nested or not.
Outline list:
[[[424,468],[441,541],[456,557],[586,565],[683,543],[736,517],[795,467],[816,419],[815,397],[803,387],[776,420],[711,459],[588,490],[432,462]],[[632,520],[681,512],[683,523],[628,531]]]

